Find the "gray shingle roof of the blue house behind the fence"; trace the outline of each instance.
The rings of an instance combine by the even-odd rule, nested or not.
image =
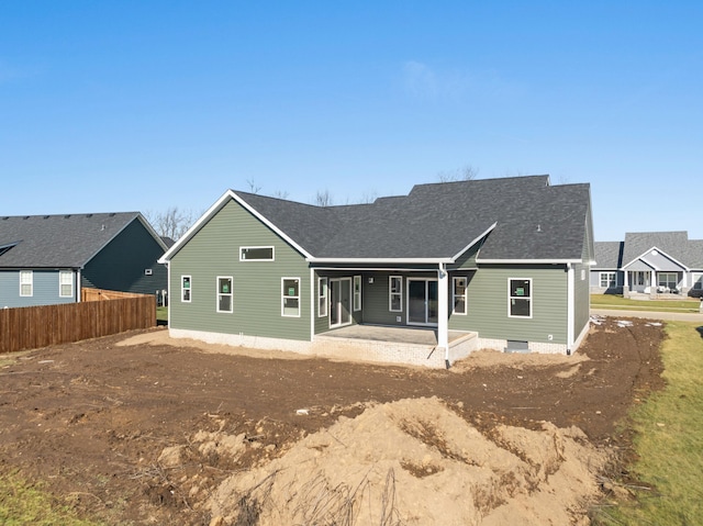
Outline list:
[[[0,216],[0,268],[79,268],[138,212]]]

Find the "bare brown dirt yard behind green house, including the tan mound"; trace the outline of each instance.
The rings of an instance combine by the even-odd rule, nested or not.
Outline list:
[[[0,357],[0,472],[107,524],[589,524],[662,326],[449,370],[133,332]],[[623,326],[624,325],[624,326]]]

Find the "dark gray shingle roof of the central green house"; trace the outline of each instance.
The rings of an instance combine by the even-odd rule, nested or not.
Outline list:
[[[451,258],[494,231],[481,259],[581,259],[589,184],[548,176],[420,184],[371,204],[313,206],[235,192],[316,258]]]

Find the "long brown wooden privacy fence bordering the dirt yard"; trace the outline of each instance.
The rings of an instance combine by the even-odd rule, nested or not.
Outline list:
[[[112,301],[0,309],[0,352],[154,326],[156,299],[147,294]]]

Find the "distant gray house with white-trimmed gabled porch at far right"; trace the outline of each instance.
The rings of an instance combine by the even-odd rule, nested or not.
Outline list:
[[[687,232],[629,232],[594,246],[593,293],[703,294],[703,240]]]

